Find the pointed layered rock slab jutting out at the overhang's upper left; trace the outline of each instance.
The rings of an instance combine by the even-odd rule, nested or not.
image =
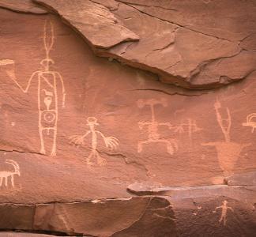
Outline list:
[[[106,7],[92,1],[37,1],[56,9],[93,47],[110,48],[124,41],[139,40]],[[77,9],[79,9],[77,13]]]

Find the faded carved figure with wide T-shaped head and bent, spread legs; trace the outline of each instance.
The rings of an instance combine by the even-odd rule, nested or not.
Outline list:
[[[169,154],[173,154],[176,150],[178,150],[178,144],[175,141],[175,139],[165,139],[161,138],[159,134],[158,127],[159,126],[168,126],[169,129],[172,129],[173,126],[170,122],[157,122],[156,116],[155,116],[155,109],[154,107],[156,104],[160,104],[163,107],[167,106],[166,100],[138,100],[137,101],[137,107],[142,108],[145,106],[149,106],[151,110],[151,121],[146,122],[138,122],[139,129],[142,130],[144,126],[148,126],[148,140],[145,141],[138,141],[137,144],[137,152],[142,152],[142,145],[150,144],[150,143],[164,143],[164,145],[167,146],[167,150]]]

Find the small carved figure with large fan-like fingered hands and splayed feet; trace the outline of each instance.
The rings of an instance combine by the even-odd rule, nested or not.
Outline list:
[[[92,135],[92,149],[90,154],[87,157],[87,164],[92,165],[91,162],[92,159],[96,159],[96,164],[99,164],[100,166],[103,166],[107,164],[107,160],[102,158],[97,151],[97,145],[98,145],[98,134],[103,138],[104,143],[107,148],[114,150],[117,149],[119,146],[119,139],[116,137],[105,137],[104,134],[102,134],[100,131],[95,129],[95,126],[98,126],[99,123],[97,122],[97,119],[95,117],[88,117],[87,119],[87,126],[89,127],[89,130],[84,135],[73,135],[70,137],[70,144],[74,145],[85,145],[85,137],[88,136],[88,134]]]

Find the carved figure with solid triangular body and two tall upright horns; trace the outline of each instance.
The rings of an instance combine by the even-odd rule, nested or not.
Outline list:
[[[226,108],[227,119],[223,119],[222,115],[220,114],[221,104],[219,100],[216,100],[216,103],[214,103],[214,108],[216,111],[216,120],[220,125],[222,133],[224,134],[224,141],[208,142],[201,145],[216,147],[220,168],[222,169],[222,171],[224,171],[224,175],[228,176],[233,174],[235,163],[239,159],[239,155],[242,152],[243,148],[247,147],[250,144],[239,144],[236,142],[232,142],[230,139],[232,118],[228,107]]]

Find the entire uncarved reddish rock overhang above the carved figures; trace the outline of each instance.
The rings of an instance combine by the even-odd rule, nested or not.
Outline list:
[[[54,9],[96,55],[149,70],[166,83],[215,88],[242,80],[256,68],[253,0],[33,2]]]

